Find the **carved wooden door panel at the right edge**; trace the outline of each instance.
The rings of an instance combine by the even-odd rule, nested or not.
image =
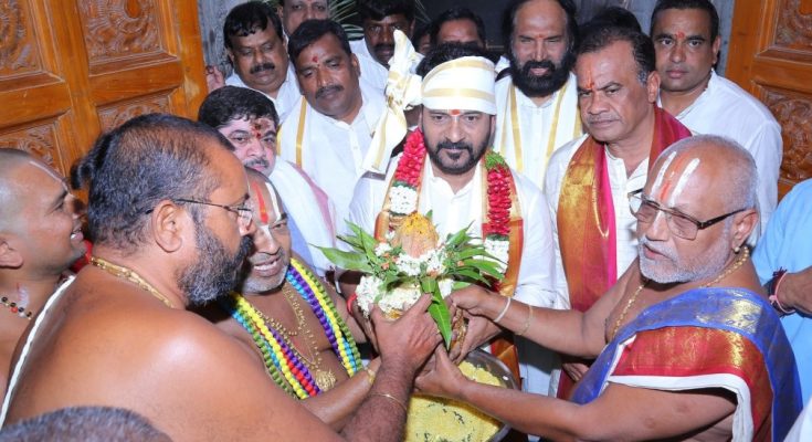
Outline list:
[[[812,0],[739,0],[727,76],[781,124],[779,193],[812,178]]]

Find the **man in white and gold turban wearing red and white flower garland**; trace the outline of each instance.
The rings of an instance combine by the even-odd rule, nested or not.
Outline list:
[[[557,305],[547,201],[491,149],[496,114],[493,63],[477,49],[445,44],[426,55],[418,73],[423,76],[420,130],[409,136],[386,180],[358,182],[350,221],[382,236],[402,215],[431,211],[441,238],[467,227],[507,263],[499,287],[489,287],[494,296]],[[484,318],[472,318],[460,356],[502,332]],[[518,369],[516,346],[506,341],[514,335],[503,336],[507,339],[492,341],[491,349]],[[529,343],[516,344],[524,388],[546,394],[555,357],[530,349]]]

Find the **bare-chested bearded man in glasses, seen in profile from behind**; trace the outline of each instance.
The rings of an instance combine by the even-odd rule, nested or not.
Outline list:
[[[245,171],[222,135],[136,117],[102,136],[72,178],[88,190],[94,265],[40,315],[7,422],[92,403],[131,409],[175,441],[341,440],[250,349],[186,309],[232,288],[256,229]],[[441,340],[428,305],[391,323],[373,315],[381,367],[347,439],[400,440],[414,372]]]

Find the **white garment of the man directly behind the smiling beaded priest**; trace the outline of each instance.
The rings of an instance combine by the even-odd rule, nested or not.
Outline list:
[[[316,273],[324,276],[334,265],[318,248],[336,246],[333,202],[304,170],[282,158],[276,159],[268,178],[307,242]]]

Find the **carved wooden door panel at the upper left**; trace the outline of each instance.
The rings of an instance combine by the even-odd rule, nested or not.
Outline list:
[[[196,0],[0,1],[0,147],[66,173],[103,130],[205,95]]]

